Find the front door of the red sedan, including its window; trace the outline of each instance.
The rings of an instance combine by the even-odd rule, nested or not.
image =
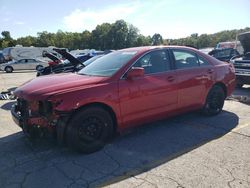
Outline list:
[[[119,81],[120,108],[126,125],[154,119],[177,107],[176,73],[167,50],[145,54],[132,67],[142,67],[145,75]],[[131,67],[131,68],[132,68]]]

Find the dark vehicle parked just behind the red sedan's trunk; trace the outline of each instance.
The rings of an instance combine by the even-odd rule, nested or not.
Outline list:
[[[234,48],[214,49],[210,51],[208,54],[220,61],[226,61],[226,62],[229,62],[232,57],[240,55],[240,53]]]

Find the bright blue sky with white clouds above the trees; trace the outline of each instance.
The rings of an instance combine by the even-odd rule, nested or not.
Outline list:
[[[0,32],[92,31],[123,19],[145,36],[174,39],[250,27],[249,8],[250,0],[0,0]]]

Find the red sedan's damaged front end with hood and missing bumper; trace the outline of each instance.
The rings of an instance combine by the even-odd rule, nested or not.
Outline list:
[[[13,92],[17,101],[11,109],[12,118],[31,137],[56,133],[60,140],[85,88],[104,79],[68,73],[30,80]]]

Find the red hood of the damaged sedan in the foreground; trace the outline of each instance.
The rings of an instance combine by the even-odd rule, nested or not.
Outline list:
[[[41,76],[18,87],[14,91],[14,95],[31,101],[46,100],[54,94],[91,87],[106,79],[106,77],[93,77],[75,73]]]

